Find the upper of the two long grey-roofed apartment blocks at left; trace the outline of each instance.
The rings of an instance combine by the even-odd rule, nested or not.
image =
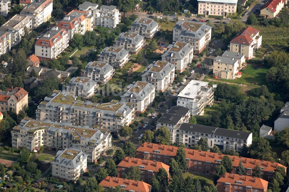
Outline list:
[[[109,103],[97,104],[91,101],[76,100],[68,91],[53,91],[45,97],[36,110],[36,119],[49,119],[55,122],[70,122],[73,125],[88,125],[118,133],[124,125],[134,121],[133,103],[112,100]]]

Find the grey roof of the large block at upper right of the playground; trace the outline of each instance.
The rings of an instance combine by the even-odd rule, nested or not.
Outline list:
[[[197,30],[191,30],[194,24],[201,25]],[[203,22],[194,22],[194,21],[177,21],[173,30],[182,30],[182,33],[179,36],[191,36],[195,39],[201,39],[206,34],[206,30],[210,30],[212,27],[204,24]]]

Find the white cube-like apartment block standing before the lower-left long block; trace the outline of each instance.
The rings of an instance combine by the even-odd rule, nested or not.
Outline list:
[[[87,171],[87,154],[73,147],[60,150],[51,166],[52,177],[61,181],[76,181]]]

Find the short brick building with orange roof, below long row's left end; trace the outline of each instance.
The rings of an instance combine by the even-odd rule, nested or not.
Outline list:
[[[158,172],[160,168],[164,168],[168,173],[169,177],[170,166],[158,161],[132,158],[132,157],[124,158],[117,165],[117,177],[125,178],[126,170],[131,166],[138,167],[140,169],[141,171],[140,179],[146,183],[151,183],[151,178],[153,178],[153,176]]]

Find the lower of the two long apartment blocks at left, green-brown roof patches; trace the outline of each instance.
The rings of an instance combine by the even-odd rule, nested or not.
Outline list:
[[[38,121],[25,117],[11,131],[12,147],[58,151],[68,147],[81,149],[88,155],[88,162],[96,162],[102,152],[111,148],[109,131],[91,128],[88,125],[75,126],[72,123],[56,123],[50,120]]]

